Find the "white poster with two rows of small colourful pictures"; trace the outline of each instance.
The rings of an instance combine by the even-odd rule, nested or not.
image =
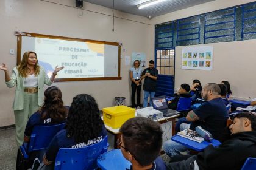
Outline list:
[[[182,69],[212,70],[213,46],[182,48]]]

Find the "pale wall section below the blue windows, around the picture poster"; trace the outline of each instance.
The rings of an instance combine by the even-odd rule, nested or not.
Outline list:
[[[254,78],[256,39],[247,41],[221,42],[197,46],[213,46],[213,70],[185,70],[182,66],[182,48],[195,46],[176,47],[176,79],[175,87],[180,84],[192,84],[194,79],[199,79],[202,85],[206,83],[221,83],[229,81],[233,97],[249,100],[256,98]]]

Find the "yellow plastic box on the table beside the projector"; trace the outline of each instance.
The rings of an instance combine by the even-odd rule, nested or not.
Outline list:
[[[102,111],[104,123],[113,129],[120,128],[126,120],[135,117],[135,109],[127,106],[106,107]]]

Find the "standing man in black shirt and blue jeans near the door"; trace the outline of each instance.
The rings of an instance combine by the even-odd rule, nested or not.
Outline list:
[[[144,78],[143,90],[144,100],[143,107],[148,107],[148,97],[153,98],[155,96],[155,90],[157,87],[158,70],[154,67],[154,61],[149,61],[149,67],[144,69],[140,81]],[[149,102],[150,106],[153,106],[152,101]]]

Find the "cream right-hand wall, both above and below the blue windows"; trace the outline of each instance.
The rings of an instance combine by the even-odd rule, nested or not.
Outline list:
[[[189,16],[212,12],[219,9],[225,9],[236,5],[246,4],[249,2],[254,1],[211,1],[187,9],[168,13],[166,15],[157,16],[155,18],[152,18],[151,24],[152,27],[154,27],[155,24],[161,24],[164,22],[174,21],[176,19],[187,18]],[[151,31],[151,34],[154,35],[154,29],[152,29]],[[154,44],[151,45],[153,48]],[[199,79],[202,84],[210,82],[221,83],[222,80],[227,80],[231,84],[234,98],[240,98],[243,100],[248,100],[248,97],[256,98],[256,90],[254,89],[254,84],[256,83],[256,80],[253,78],[256,63],[256,40],[221,42],[197,46],[213,46],[213,70],[205,71],[181,69],[182,47],[188,46],[176,47],[176,89],[179,89],[180,84],[182,83],[192,84],[194,78]],[[154,52],[154,50],[152,50],[152,52]]]

